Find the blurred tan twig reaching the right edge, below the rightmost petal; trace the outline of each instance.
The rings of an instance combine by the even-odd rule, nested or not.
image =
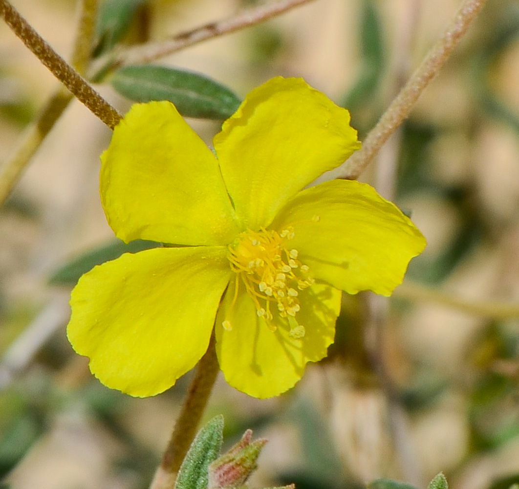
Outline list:
[[[412,301],[424,301],[452,307],[463,313],[491,319],[519,318],[519,304],[506,302],[470,301],[455,297],[452,293],[443,292],[422,284],[404,281],[393,292],[393,297],[401,297]]]

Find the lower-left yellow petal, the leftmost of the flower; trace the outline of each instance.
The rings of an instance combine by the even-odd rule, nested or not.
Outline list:
[[[67,335],[113,389],[154,396],[207,349],[229,274],[224,247],[154,248],[94,267],[72,291]]]

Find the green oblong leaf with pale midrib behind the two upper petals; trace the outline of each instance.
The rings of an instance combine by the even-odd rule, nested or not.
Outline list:
[[[110,81],[120,94],[134,102],[169,100],[185,117],[226,119],[241,102],[228,88],[207,76],[166,66],[123,66]]]

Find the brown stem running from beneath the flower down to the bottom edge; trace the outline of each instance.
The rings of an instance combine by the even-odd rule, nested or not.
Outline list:
[[[173,489],[176,474],[189,445],[195,438],[198,423],[206,407],[218,371],[220,371],[220,367],[216,358],[213,335],[206,354],[198,362],[195,378],[176,420],[168,447],[162,455],[160,466],[155,472],[151,489]]]

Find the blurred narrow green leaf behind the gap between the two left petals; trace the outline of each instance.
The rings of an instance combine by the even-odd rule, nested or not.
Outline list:
[[[123,253],[137,253],[139,251],[147,250],[149,248],[157,248],[161,246],[155,241],[145,241],[136,239],[131,243],[124,243],[120,240],[111,242],[109,245],[96,248],[83,255],[80,255],[75,260],[67,263],[59,268],[49,279],[52,285],[74,286],[81,275],[86,274],[95,265],[115,260]]]

